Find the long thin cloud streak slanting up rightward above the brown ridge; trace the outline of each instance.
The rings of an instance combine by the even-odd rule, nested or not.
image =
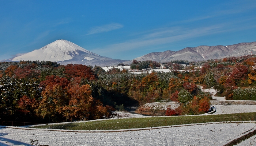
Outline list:
[[[223,31],[222,27],[221,25],[212,25],[194,29],[182,27],[159,28],[152,30],[150,33],[143,34],[139,38],[127,40],[123,43],[112,44],[105,48],[94,49],[93,52],[101,52],[102,54],[108,52],[123,52],[136,48],[169,44],[189,38],[219,33]]]

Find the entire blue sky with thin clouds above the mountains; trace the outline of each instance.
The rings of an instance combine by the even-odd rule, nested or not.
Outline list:
[[[0,60],[68,40],[101,56],[256,41],[255,0],[0,0]]]

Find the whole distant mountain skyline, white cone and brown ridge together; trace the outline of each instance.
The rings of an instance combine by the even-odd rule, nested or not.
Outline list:
[[[138,61],[153,60],[170,62],[171,60],[201,61],[220,59],[229,56],[244,56],[256,54],[256,42],[239,43],[230,46],[198,46],[187,47],[180,51],[153,52],[132,59]],[[116,66],[119,63],[131,64],[132,60],[118,60],[100,56],[67,40],[56,40],[38,50],[1,61],[39,60],[52,61],[60,64],[84,64],[101,67]]]

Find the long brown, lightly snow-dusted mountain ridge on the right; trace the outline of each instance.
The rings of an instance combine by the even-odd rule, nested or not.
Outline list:
[[[256,42],[239,43],[229,46],[198,46],[187,47],[179,51],[153,52],[133,60],[154,60],[157,62],[170,62],[171,60],[201,61],[207,59],[221,59],[230,56],[244,56],[256,54]],[[124,62],[131,64],[132,60]]]

